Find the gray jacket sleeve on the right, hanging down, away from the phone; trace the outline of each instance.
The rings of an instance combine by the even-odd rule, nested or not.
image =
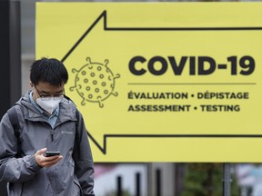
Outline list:
[[[80,182],[82,196],[95,196],[94,162],[90,144],[87,138],[85,122],[81,113],[79,113],[77,132],[78,139],[75,141],[76,143],[73,153],[73,158],[76,165],[76,177]]]

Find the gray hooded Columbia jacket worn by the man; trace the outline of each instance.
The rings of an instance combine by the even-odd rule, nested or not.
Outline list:
[[[52,129],[43,114],[29,102],[29,93],[25,93],[15,105],[21,127],[21,158],[15,157],[17,140],[7,113],[0,124],[0,181],[8,181],[8,195],[95,195],[93,158],[80,113],[77,130],[79,146],[75,147],[75,151],[78,149],[79,152],[73,154],[76,105],[63,98]],[[39,167],[34,154],[45,147],[48,151],[61,152],[63,159],[49,168]]]

